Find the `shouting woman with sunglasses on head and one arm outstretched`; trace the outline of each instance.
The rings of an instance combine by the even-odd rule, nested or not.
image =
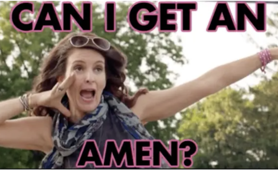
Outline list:
[[[42,168],[76,168],[85,140],[103,151],[107,139],[153,139],[141,122],[171,117],[277,59],[277,48],[264,50],[186,84],[129,97],[123,54],[94,34],[71,33],[45,58],[31,95],[0,102],[0,146],[43,151]],[[34,116],[9,120],[24,110]]]

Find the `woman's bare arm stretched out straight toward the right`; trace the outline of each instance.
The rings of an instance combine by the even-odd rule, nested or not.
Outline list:
[[[269,52],[273,60],[278,59],[277,48]],[[243,79],[262,65],[260,55],[255,54],[218,66],[191,82],[140,96],[132,110],[141,121],[146,122],[171,117],[200,99]]]

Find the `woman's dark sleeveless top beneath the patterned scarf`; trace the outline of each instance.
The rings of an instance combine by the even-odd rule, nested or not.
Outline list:
[[[105,142],[108,139],[115,140],[117,145],[120,146],[122,140],[131,139],[134,137],[131,136],[129,132],[124,128],[120,120],[116,117],[114,113],[108,112],[107,118],[103,122],[103,125],[92,135],[90,139],[96,141],[98,145],[101,156],[103,156]],[[64,158],[64,169],[81,169],[76,167],[76,162],[78,160],[82,146],[75,151],[72,155]],[[87,164],[85,168],[82,169],[95,169],[93,164]],[[100,168],[97,168],[100,169]],[[107,168],[104,168],[107,169]],[[112,163],[111,169],[119,169],[115,166],[114,162]],[[120,169],[130,169],[125,167],[125,164]]]

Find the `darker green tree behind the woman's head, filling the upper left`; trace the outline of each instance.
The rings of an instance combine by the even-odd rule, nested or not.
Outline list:
[[[30,90],[42,58],[67,34],[54,33],[51,29],[44,29],[40,33],[17,32],[10,23],[10,12],[12,6],[18,2],[0,2],[1,100],[22,95]],[[52,2],[60,11],[59,1]],[[33,3],[36,16],[41,2],[33,1]],[[126,54],[129,60],[128,78],[136,88],[147,87],[150,90],[169,88],[172,83],[168,77],[174,74],[169,71],[162,59],[184,64],[182,47],[175,44],[170,33],[139,34],[133,31],[126,21],[130,5],[117,3],[117,31],[106,33],[103,6],[93,2],[93,31],[98,36],[108,39]],[[80,7],[80,4],[78,6]],[[22,18],[26,21],[34,19],[34,16],[24,13]],[[141,69],[142,66],[145,66],[144,70]],[[174,118],[164,120],[164,128],[161,128],[158,122],[148,123],[147,128],[156,138],[167,141],[175,132],[175,128],[170,126],[173,121]],[[41,158],[34,154],[36,152],[0,148],[0,168],[36,168]]]

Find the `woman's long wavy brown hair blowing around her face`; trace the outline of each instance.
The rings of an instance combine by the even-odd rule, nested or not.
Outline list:
[[[96,37],[93,33],[69,33],[63,38],[48,54],[42,63],[40,73],[34,80],[34,85],[31,93],[40,93],[51,90],[57,83],[57,77],[63,75],[66,69],[68,52],[74,49],[69,38],[76,35]],[[85,47],[92,48],[92,47]],[[95,49],[97,50],[97,49]],[[129,96],[128,88],[124,85],[126,74],[126,56],[116,47],[111,46],[108,51],[101,52],[105,58],[107,82],[105,91],[112,93],[120,99],[127,107],[131,108],[135,105],[138,97],[147,93],[147,89],[138,90],[134,96]],[[63,99],[67,98],[65,97]],[[32,115],[35,116],[54,116],[54,110],[43,106],[38,106],[33,109]]]

